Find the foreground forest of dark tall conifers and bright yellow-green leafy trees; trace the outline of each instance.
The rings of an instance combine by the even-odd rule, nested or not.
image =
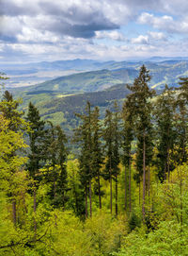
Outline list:
[[[87,101],[71,138],[32,102],[20,111],[7,78],[0,255],[188,255],[188,77],[156,94],[142,65],[123,107],[102,119]]]

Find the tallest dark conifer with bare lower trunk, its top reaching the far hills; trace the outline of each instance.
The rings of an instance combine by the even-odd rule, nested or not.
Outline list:
[[[137,166],[143,174],[143,202],[142,214],[143,221],[145,221],[146,214],[146,167],[149,165],[151,150],[151,102],[150,99],[154,95],[154,91],[149,89],[150,76],[149,70],[143,65],[140,68],[139,76],[134,79],[133,86],[128,86],[132,92],[133,114],[135,118],[135,128],[137,137]],[[141,171],[139,171],[141,174]]]

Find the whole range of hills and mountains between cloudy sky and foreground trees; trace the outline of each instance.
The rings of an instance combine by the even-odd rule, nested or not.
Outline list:
[[[129,91],[126,84],[133,83],[139,74],[139,69],[145,64],[152,77],[149,86],[161,91],[165,84],[178,86],[180,77],[188,76],[188,60],[168,60],[153,58],[145,61],[107,61],[95,60],[65,60],[54,62],[39,62],[15,66],[5,66],[2,72],[9,69],[9,74],[22,81],[33,76],[38,80],[45,76],[51,77],[59,73],[69,76],[47,79],[41,83],[24,87],[8,89],[15,97],[22,97],[21,108],[26,111],[29,101],[32,101],[44,119],[61,124],[69,132],[76,127],[75,112],[82,112],[89,100],[93,106],[100,106],[102,116],[107,108],[112,108],[114,99],[119,106]],[[11,67],[11,69],[10,69]],[[1,70],[1,66],[0,66]],[[17,72],[17,73],[16,73]],[[7,72],[8,74],[8,72]],[[13,75],[12,75],[13,76]],[[11,79],[10,79],[11,80]],[[7,82],[7,81],[6,81]]]

